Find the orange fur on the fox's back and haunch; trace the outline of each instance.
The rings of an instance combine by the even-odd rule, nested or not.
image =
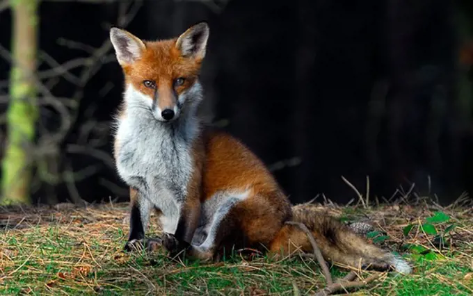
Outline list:
[[[232,220],[249,245],[269,245],[285,221],[291,205],[264,163],[248,147],[227,133],[209,132],[205,138],[202,196],[218,191],[250,190],[250,197],[235,206]]]

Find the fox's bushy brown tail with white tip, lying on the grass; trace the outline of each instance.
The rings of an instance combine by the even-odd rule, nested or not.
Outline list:
[[[412,272],[410,265],[401,257],[372,245],[319,206],[301,204],[293,206],[292,212],[292,221],[305,224],[312,232],[326,261],[352,268],[394,268],[403,274]],[[271,252],[281,252],[281,249],[284,254],[296,249],[305,253],[313,252],[307,235],[294,225],[284,226],[273,241]]]

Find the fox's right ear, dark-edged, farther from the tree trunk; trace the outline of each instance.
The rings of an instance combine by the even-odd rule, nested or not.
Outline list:
[[[200,22],[188,28],[187,31],[177,38],[176,47],[186,58],[204,58],[209,39],[209,25]]]

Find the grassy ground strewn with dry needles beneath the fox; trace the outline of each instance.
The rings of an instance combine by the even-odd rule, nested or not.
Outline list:
[[[427,205],[339,207],[344,222],[369,222],[367,238],[414,265],[408,276],[380,274],[357,295],[472,295],[473,207]],[[221,263],[170,260],[163,253],[127,254],[128,205],[70,204],[0,208],[3,295],[313,295],[326,286],[318,263],[279,260],[237,250]],[[150,233],[159,236],[153,220]],[[347,270],[332,266],[333,277]],[[359,272],[366,278],[376,272]]]

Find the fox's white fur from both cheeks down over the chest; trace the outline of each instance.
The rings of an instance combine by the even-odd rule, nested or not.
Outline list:
[[[125,117],[115,122],[118,174],[138,189],[142,208],[161,210],[163,230],[174,233],[194,170],[192,146],[200,132],[195,112],[202,100],[202,87],[196,81],[179,94],[182,110],[174,122],[157,120],[152,113],[153,99],[132,85],[126,86],[124,99]],[[148,210],[143,211],[142,218],[147,220],[143,213]]]

